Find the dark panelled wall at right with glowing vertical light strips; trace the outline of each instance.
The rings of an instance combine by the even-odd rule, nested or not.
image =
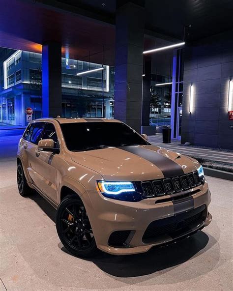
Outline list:
[[[233,30],[185,47],[181,143],[233,149]]]

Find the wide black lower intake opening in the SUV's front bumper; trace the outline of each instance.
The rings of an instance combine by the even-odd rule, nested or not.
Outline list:
[[[178,237],[202,225],[206,215],[206,206],[202,205],[196,209],[179,213],[172,217],[155,220],[148,225],[142,240],[144,243],[152,243],[164,234],[172,238]]]

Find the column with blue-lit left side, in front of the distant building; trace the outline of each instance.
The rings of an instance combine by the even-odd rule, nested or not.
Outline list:
[[[61,115],[61,45],[48,42],[42,48],[42,116]]]

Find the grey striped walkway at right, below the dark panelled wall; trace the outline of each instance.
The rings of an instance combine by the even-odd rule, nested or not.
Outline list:
[[[211,148],[200,148],[195,146],[183,146],[180,141],[172,140],[171,144],[163,144],[162,134],[148,136],[148,142],[161,146],[184,155],[199,157],[209,162],[230,164],[233,166],[233,151],[218,150]]]

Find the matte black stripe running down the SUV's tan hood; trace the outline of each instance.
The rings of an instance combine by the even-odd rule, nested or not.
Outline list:
[[[183,175],[184,171],[176,162],[164,157],[156,151],[147,149],[142,146],[119,146],[118,148],[131,152],[144,158],[150,163],[157,166],[163,173],[165,178]]]

